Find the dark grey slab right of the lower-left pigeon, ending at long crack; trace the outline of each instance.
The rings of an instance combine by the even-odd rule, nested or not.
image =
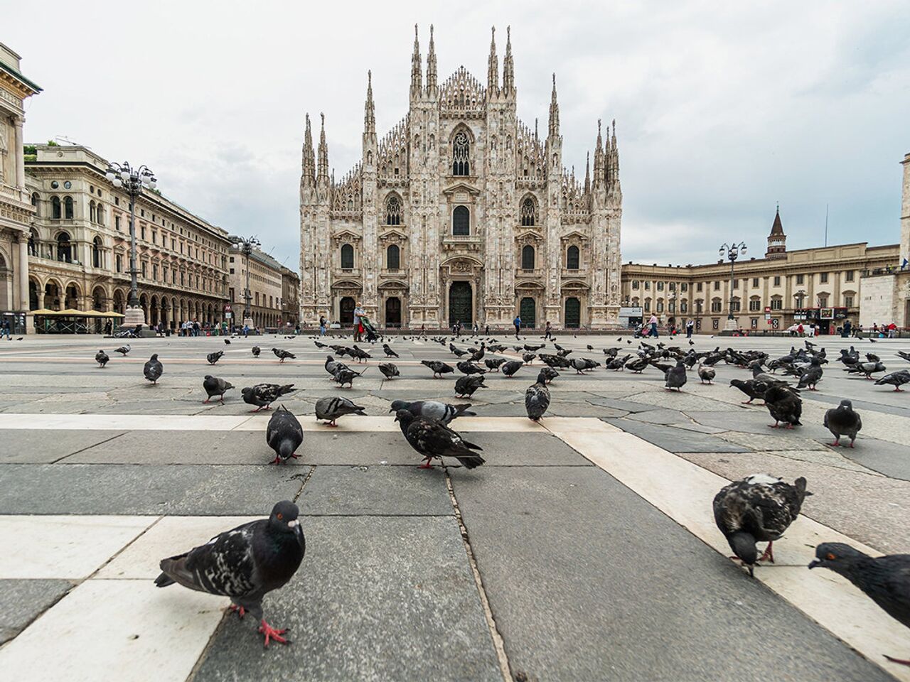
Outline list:
[[[308,517],[297,576],[266,597],[288,647],[226,617],[195,682],[502,676],[454,517]]]

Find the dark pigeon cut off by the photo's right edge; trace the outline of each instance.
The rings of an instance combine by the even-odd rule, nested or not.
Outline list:
[[[810,568],[828,568],[859,587],[888,616],[910,627],[910,554],[869,557],[843,542],[815,547]],[[910,660],[885,655],[892,663],[910,666]]]

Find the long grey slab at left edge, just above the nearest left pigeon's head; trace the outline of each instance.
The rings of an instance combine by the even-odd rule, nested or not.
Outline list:
[[[261,514],[294,499],[309,466],[0,466],[0,514]]]

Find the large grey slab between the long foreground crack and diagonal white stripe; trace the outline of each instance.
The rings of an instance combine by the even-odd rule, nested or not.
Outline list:
[[[612,476],[513,468],[453,486],[513,675],[641,680],[647,662],[655,680],[890,679]]]

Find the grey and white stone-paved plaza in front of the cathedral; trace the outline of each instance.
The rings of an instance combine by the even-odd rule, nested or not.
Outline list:
[[[604,347],[638,345],[557,340],[598,360]],[[390,381],[370,347],[365,375],[344,389],[308,336],[144,338],[126,357],[97,336],[0,341],[0,670],[19,682],[910,680],[884,657],[910,657],[910,631],[832,571],[806,568],[823,541],[910,552],[910,391],[834,362],[853,344],[900,369],[910,363],[896,351],[910,344],[816,342],[831,362],[792,431],[769,428],[759,401],[743,405],[729,381],[748,372],[723,362],[713,385],[691,371],[680,393],[652,367],[562,370],[534,424],[523,400],[535,360],[511,378],[490,374],[467,401],[477,416],[451,424],[485,466],[421,470],[389,402],[465,402],[457,372],[433,379],[420,364],[455,364],[430,340],[393,340],[401,376]],[[771,356],[792,343],[803,341],[695,337],[699,351]],[[272,346],[297,358],[279,364]],[[103,369],[99,348],[111,356]],[[164,365],[157,386],[142,375],[152,353]],[[202,403],[207,374],[237,386],[224,405]],[[288,466],[268,464],[268,412],[250,414],[240,396],[262,382],[297,388],[280,401],[305,429]],[[368,416],[320,425],[314,404],[332,395]],[[844,397],[864,423],[854,449],[825,445],[824,411]],[[814,495],[775,543],[776,564],[751,579],[728,558],[712,499],[756,472],[805,476]],[[281,499],[300,507],[307,552],[264,606],[292,644],[265,649],[227,598],[155,587],[162,557],[267,517]]]

